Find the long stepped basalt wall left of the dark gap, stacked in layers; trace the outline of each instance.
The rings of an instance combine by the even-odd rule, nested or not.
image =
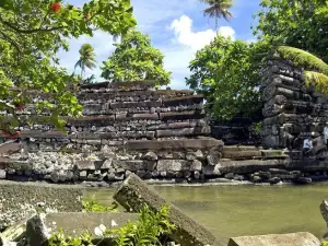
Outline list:
[[[83,85],[78,98],[83,117],[67,118],[67,132],[45,122],[21,126],[21,142],[0,147],[7,149],[0,178],[112,183],[133,172],[144,179],[194,180],[204,178],[207,166],[214,175],[223,142],[209,137],[202,96],[129,82]],[[35,115],[34,105],[21,114]]]

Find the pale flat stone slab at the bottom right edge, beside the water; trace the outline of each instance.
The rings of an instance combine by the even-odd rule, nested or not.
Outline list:
[[[311,233],[271,234],[261,236],[232,237],[227,246],[320,246],[320,241]]]

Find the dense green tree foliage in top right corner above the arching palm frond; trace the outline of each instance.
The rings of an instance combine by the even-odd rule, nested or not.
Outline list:
[[[307,50],[328,62],[326,0],[261,0],[255,34],[271,45]]]

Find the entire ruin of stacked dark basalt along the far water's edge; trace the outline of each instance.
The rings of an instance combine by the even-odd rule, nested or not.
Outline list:
[[[271,59],[262,74],[262,147],[213,138],[203,97],[192,91],[155,90],[151,81],[103,82],[79,87],[83,116],[67,118],[67,132],[45,122],[21,126],[21,142],[0,145],[0,179],[108,185],[134,173],[169,183],[327,180],[321,137],[315,156],[302,156],[304,138],[323,132],[327,99],[305,86],[303,70],[290,61]],[[34,105],[21,114],[35,115]],[[216,130],[226,136],[243,126]]]

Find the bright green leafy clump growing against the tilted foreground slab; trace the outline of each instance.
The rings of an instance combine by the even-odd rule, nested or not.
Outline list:
[[[175,225],[168,221],[169,208],[164,206],[159,212],[144,207],[140,211],[139,220],[129,222],[125,226],[108,231],[107,234],[115,235],[116,246],[152,246],[161,245],[159,238],[171,234]]]

